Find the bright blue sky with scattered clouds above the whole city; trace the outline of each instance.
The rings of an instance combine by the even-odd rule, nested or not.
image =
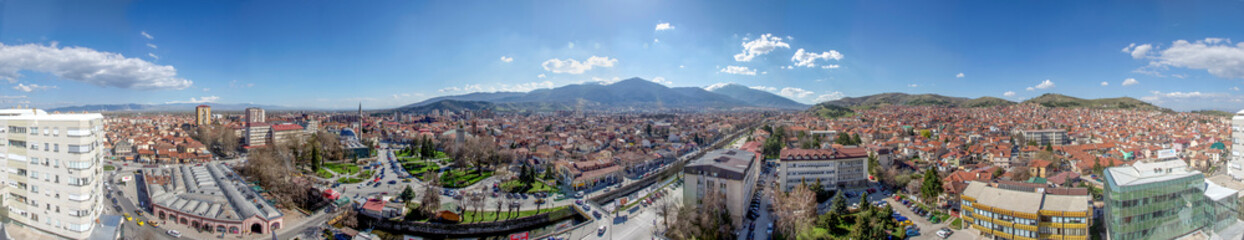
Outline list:
[[[1055,92],[1128,96],[1176,109],[1244,108],[1242,1],[0,7],[4,104],[386,108],[473,91],[642,77],[672,87],[733,82],[805,103],[882,92],[1011,101]]]

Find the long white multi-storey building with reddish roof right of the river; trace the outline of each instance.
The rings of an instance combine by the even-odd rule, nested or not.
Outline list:
[[[868,182],[868,152],[865,148],[781,149],[781,189],[817,180],[825,189],[862,185]]]

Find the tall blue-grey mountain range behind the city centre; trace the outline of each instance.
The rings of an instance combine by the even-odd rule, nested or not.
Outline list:
[[[739,85],[715,87],[666,87],[643,78],[613,83],[567,85],[557,88],[521,92],[468,93],[443,96],[396,108],[422,113],[434,109],[464,111],[562,111],[562,109],[730,109],[781,108],[805,109],[789,98]]]

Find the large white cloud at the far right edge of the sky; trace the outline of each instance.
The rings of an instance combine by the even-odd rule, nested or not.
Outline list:
[[[1232,45],[1225,39],[1204,39],[1189,42],[1177,40],[1171,47],[1164,50],[1144,50],[1137,55],[1143,46],[1132,48],[1132,57],[1149,58],[1149,65],[1141,67],[1137,72],[1157,73],[1167,67],[1184,67],[1192,70],[1205,70],[1210,75],[1223,78],[1244,78],[1244,42]],[[1127,48],[1123,48],[1127,50]]]

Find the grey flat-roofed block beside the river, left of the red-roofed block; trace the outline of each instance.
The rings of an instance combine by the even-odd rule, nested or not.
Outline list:
[[[756,192],[760,175],[759,155],[741,149],[717,149],[704,153],[683,168],[683,205],[693,206],[704,198],[723,200],[734,226],[743,225],[748,203]]]

